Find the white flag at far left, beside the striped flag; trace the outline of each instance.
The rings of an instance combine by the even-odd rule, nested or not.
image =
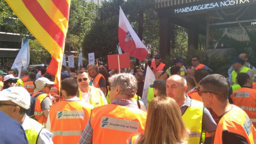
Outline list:
[[[18,77],[20,77],[21,69],[23,68],[26,69],[28,67],[29,59],[30,59],[30,54],[29,54],[29,45],[28,45],[28,38],[27,38],[24,44],[22,45],[12,65],[12,69],[17,69],[19,71]]]

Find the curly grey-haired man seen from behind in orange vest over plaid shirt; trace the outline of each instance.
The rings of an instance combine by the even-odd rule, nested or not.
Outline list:
[[[111,104],[96,107],[80,138],[79,144],[127,143],[136,133],[143,133],[147,113],[133,107],[137,80],[132,74],[121,73],[109,78]]]

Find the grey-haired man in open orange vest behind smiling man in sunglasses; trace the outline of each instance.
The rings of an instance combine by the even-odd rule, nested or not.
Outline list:
[[[87,65],[88,72],[90,74],[90,86],[94,85],[94,87],[99,88],[106,96],[106,79],[105,77],[98,73],[98,68],[95,64]]]

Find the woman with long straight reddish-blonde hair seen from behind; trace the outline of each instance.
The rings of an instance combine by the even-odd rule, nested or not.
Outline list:
[[[144,135],[133,136],[129,144],[186,144],[188,134],[175,100],[159,96],[149,103]]]

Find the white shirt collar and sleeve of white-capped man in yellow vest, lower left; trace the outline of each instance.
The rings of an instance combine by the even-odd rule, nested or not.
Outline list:
[[[30,117],[25,115],[25,119],[22,123],[23,129],[26,131],[30,129]],[[52,142],[52,133],[47,129],[42,128],[41,132],[38,135],[37,144],[53,144]]]

